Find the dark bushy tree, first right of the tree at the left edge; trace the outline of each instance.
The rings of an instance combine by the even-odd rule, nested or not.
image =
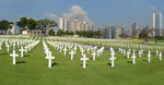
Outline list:
[[[21,27],[21,29],[25,29],[25,27],[27,26],[27,19],[25,16],[20,17],[20,21],[16,22],[16,25]]]

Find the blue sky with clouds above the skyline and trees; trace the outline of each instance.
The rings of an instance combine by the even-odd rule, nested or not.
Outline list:
[[[117,24],[130,28],[152,26],[152,14],[164,13],[164,0],[0,0],[0,20],[17,22],[20,16],[36,20],[79,19],[103,28]]]

